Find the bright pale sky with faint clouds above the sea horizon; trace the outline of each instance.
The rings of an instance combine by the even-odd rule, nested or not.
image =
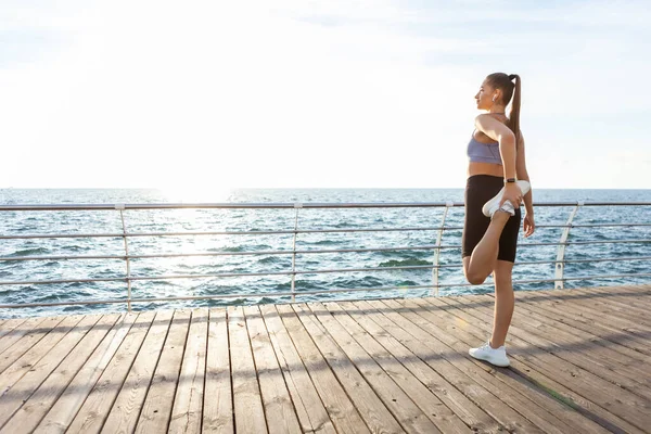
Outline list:
[[[3,0],[0,188],[462,188],[522,77],[532,186],[651,189],[643,1]]]

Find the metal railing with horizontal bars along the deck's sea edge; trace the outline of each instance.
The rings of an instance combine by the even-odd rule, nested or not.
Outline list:
[[[626,261],[626,260],[649,260],[651,256],[629,256],[629,257],[608,257],[608,258],[589,258],[589,259],[565,259],[565,250],[570,245],[586,245],[586,244],[604,244],[604,243],[650,243],[651,239],[628,239],[628,240],[592,240],[592,241],[567,241],[570,230],[572,228],[605,228],[605,227],[649,227],[650,222],[613,222],[613,224],[587,224],[574,225],[573,220],[580,207],[587,206],[651,206],[651,202],[545,202],[536,203],[536,207],[556,206],[556,207],[572,207],[570,217],[565,225],[538,225],[538,229],[542,228],[561,228],[562,234],[558,242],[539,242],[539,243],[520,243],[519,247],[536,247],[536,246],[557,246],[557,257],[554,260],[534,260],[534,261],[518,261],[516,265],[554,265],[553,279],[529,279],[514,281],[514,284],[521,283],[540,283],[553,282],[556,289],[562,289],[565,281],[571,280],[599,280],[625,277],[651,277],[649,273],[620,273],[620,275],[600,275],[583,277],[565,277],[565,264],[578,263],[599,263],[599,261]],[[406,227],[406,228],[360,228],[360,229],[299,229],[298,213],[301,209],[309,208],[444,208],[441,226],[436,227]],[[444,232],[450,230],[461,230],[460,226],[446,226],[446,217],[449,208],[463,207],[463,203],[457,202],[411,202],[411,203],[197,203],[197,204],[85,204],[85,205],[0,205],[1,212],[43,212],[43,210],[117,210],[122,221],[122,232],[113,233],[41,233],[41,234],[3,234],[0,240],[31,240],[31,239],[65,239],[65,238],[115,238],[124,240],[124,255],[50,255],[50,256],[5,256],[0,257],[0,261],[27,261],[27,260],[87,260],[87,259],[119,259],[125,261],[125,275],[117,278],[97,278],[97,279],[58,279],[58,280],[23,280],[23,281],[0,281],[1,285],[26,285],[26,284],[54,284],[54,283],[81,283],[81,282],[115,282],[120,281],[126,283],[127,297],[118,299],[90,299],[90,301],[69,301],[58,303],[21,303],[21,304],[1,304],[0,308],[20,308],[20,307],[37,307],[37,306],[61,306],[61,305],[94,305],[94,304],[115,304],[126,303],[127,309],[131,310],[132,303],[142,302],[168,302],[168,301],[187,301],[187,299],[210,299],[210,298],[235,298],[235,297],[259,297],[259,296],[291,296],[292,302],[296,295],[316,295],[323,293],[337,292],[369,292],[369,291],[390,291],[405,289],[430,289],[433,295],[438,295],[438,290],[450,286],[469,286],[469,283],[449,283],[439,282],[438,271],[443,268],[462,268],[459,260],[458,264],[439,264],[441,251],[450,248],[461,248],[460,245],[444,245],[442,244]],[[181,232],[128,232],[125,222],[125,212],[142,210],[142,209],[295,209],[294,229],[278,230],[278,231],[181,231]],[[1,214],[0,214],[1,215]],[[296,250],[296,241],[299,234],[307,233],[346,233],[346,232],[395,232],[395,231],[437,231],[436,242],[427,245],[401,245],[376,248],[324,248],[324,250]],[[129,253],[129,240],[141,237],[183,237],[183,235],[265,235],[265,234],[291,234],[293,235],[292,250],[276,250],[276,251],[254,251],[254,252],[199,252],[199,253],[164,253],[150,255],[133,255]],[[398,267],[380,267],[380,268],[337,268],[337,269],[317,269],[317,270],[297,270],[296,255],[312,255],[324,253],[368,253],[368,252],[390,252],[390,251],[417,251],[432,250],[434,253],[432,265],[419,266],[398,266]],[[169,257],[210,257],[210,256],[244,256],[244,255],[291,255],[292,268],[286,271],[268,271],[268,272],[227,272],[227,273],[201,273],[201,275],[168,275],[168,276],[132,276],[131,260],[143,258],[169,258]],[[408,286],[383,286],[383,288],[346,288],[346,289],[327,289],[319,291],[296,291],[296,276],[299,275],[319,275],[330,272],[357,272],[357,271],[391,271],[391,270],[432,270],[432,284],[430,285],[408,285]],[[202,295],[202,296],[171,296],[171,297],[132,297],[131,283],[135,281],[153,281],[153,280],[170,280],[170,279],[197,279],[197,278],[230,278],[230,277],[260,277],[260,276],[288,276],[290,277],[290,292],[272,292],[272,293],[243,293],[243,294],[218,294],[218,295]],[[489,284],[489,283],[488,283]]]

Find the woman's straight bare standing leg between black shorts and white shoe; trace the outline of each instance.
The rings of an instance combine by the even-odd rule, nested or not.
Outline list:
[[[498,348],[505,344],[513,308],[515,296],[513,293],[513,263],[498,260],[495,267],[495,311],[493,317],[493,335],[490,346]]]

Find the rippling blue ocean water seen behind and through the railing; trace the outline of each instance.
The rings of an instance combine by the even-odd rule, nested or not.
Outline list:
[[[189,192],[192,193],[192,192]],[[191,199],[191,200],[190,200]],[[215,190],[199,194],[153,189],[3,189],[0,204],[140,204],[140,203],[394,203],[394,202],[463,202],[462,189],[234,189]],[[651,190],[534,190],[535,203],[550,202],[647,202]],[[539,206],[535,208],[537,226],[564,225],[572,206]],[[26,234],[87,234],[120,233],[120,215],[117,210],[76,212],[1,212],[2,235]],[[414,228],[441,225],[444,208],[337,208],[299,209],[298,229],[370,229]],[[264,231],[293,230],[294,209],[157,209],[126,210],[127,231]],[[573,224],[649,224],[651,206],[585,206],[580,207]],[[463,207],[449,209],[445,226],[463,225]],[[554,264],[521,264],[554,260],[558,246],[527,246],[527,243],[554,243],[562,228],[539,227],[529,239],[519,241],[513,280],[553,279]],[[392,232],[326,232],[298,234],[296,248],[345,250],[384,248],[395,246],[433,245],[437,231]],[[608,243],[613,240],[640,240],[639,242]],[[647,241],[643,241],[647,240]],[[651,226],[573,228],[570,242],[601,241],[599,244],[570,245],[565,259],[628,258],[618,261],[582,261],[565,266],[564,276],[582,278],[565,282],[565,288],[615,284],[643,284],[651,272]],[[131,255],[214,252],[291,251],[293,234],[263,235],[170,235],[129,238]],[[461,265],[461,230],[446,230],[439,264]],[[73,279],[124,278],[126,264],[122,259],[43,259],[7,260],[24,256],[90,256],[124,255],[122,238],[64,238],[2,240],[0,244],[0,281],[41,281]],[[388,267],[431,266],[433,250],[397,250],[361,253],[321,253],[296,255],[296,270],[343,268],[380,268],[380,270],[302,273],[296,276],[297,302],[371,297],[417,297],[433,294],[431,289],[410,289],[432,284],[431,269],[383,270]],[[220,277],[165,279],[170,275],[209,275],[241,272],[291,271],[292,255],[195,256],[167,258],[139,258],[130,261],[132,277],[162,277],[158,280],[132,281],[132,297],[204,296],[244,294],[233,298],[202,301],[146,302],[132,304],[133,310],[193,308],[206,306],[243,305],[255,303],[285,303],[289,296],[275,294],[291,291],[291,276]],[[593,276],[630,275],[603,280]],[[460,267],[442,268],[438,273],[439,295],[492,292],[493,288],[461,286],[465,283]],[[585,278],[585,279],[584,279]],[[489,281],[488,281],[489,283]],[[449,285],[449,286],[448,286]],[[372,292],[332,292],[301,295],[302,292],[398,286],[397,290]],[[553,282],[515,284],[515,290],[549,290]],[[250,295],[251,294],[251,295]],[[127,296],[125,281],[75,282],[49,284],[2,284],[0,304],[60,303],[84,299],[116,299]],[[73,305],[33,308],[0,309],[0,318],[124,311],[126,304]]]

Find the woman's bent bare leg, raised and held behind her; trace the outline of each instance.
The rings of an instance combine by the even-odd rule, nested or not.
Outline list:
[[[496,269],[499,253],[499,238],[507,222],[511,218],[509,213],[497,212],[482,240],[472,251],[471,256],[463,258],[463,272],[465,279],[472,284],[482,284]],[[513,264],[511,264],[511,267]]]

